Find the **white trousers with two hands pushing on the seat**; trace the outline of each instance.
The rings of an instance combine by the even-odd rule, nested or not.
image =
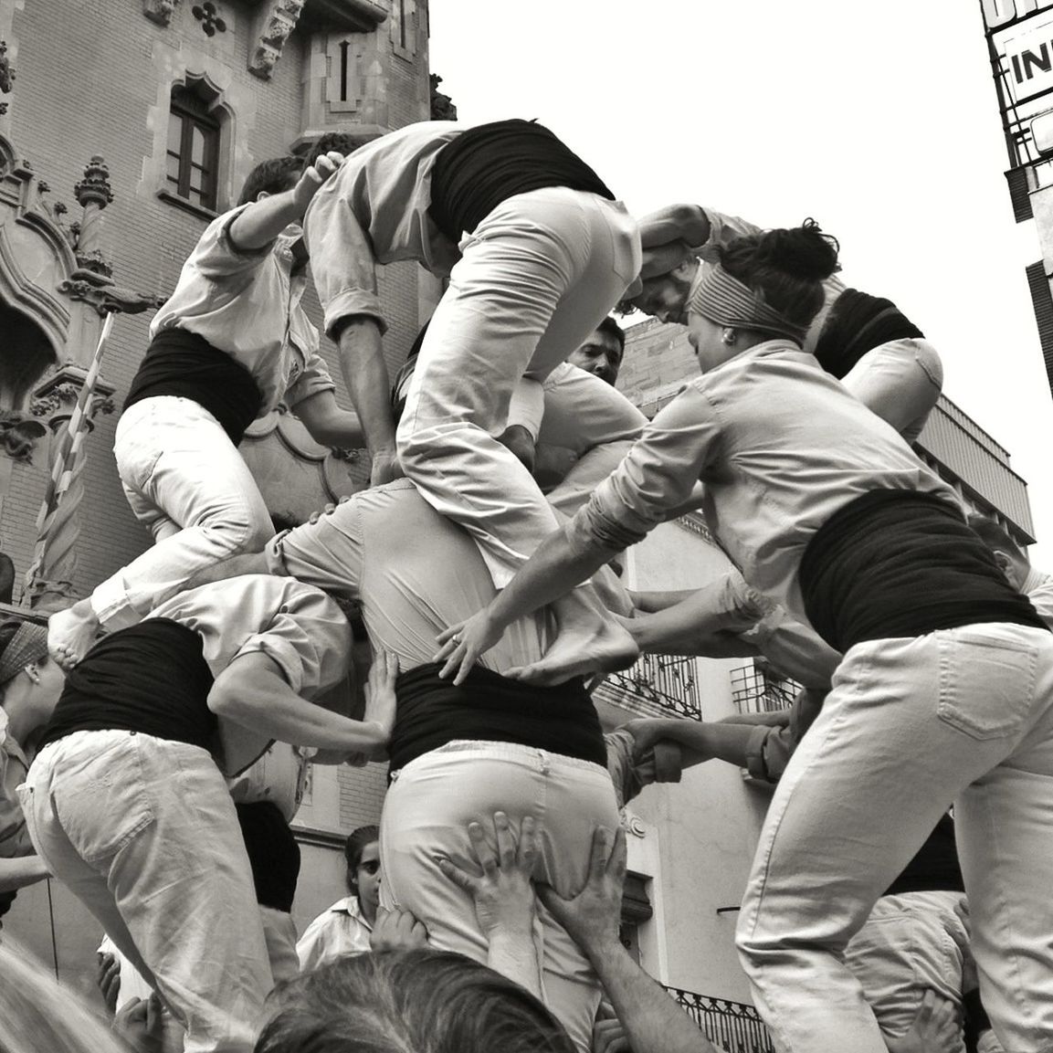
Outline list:
[[[544,836],[535,877],[567,897],[585,883],[596,827],[618,824],[607,769],[514,742],[451,742],[411,760],[393,778],[380,817],[381,903],[412,911],[433,947],[483,963],[486,940],[472,897],[436,861],[443,856],[478,872],[469,822],[480,823],[493,843],[494,812],[505,812],[517,835],[523,816],[540,819]],[[544,1002],[588,1053],[599,980],[540,901],[537,911]]]

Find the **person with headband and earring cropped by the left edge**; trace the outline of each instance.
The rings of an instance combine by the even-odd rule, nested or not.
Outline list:
[[[47,877],[15,788],[29,770],[48,692],[61,690],[62,682],[62,670],[47,655],[47,630],[17,618],[0,620],[0,918],[19,889]]]

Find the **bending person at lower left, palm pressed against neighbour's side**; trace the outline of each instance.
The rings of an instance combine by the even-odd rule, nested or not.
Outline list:
[[[249,1050],[273,987],[253,872],[215,756],[279,739],[336,762],[382,747],[397,667],[378,657],[365,720],[307,698],[346,676],[336,603],[271,576],[181,593],[49,687],[19,788],[29,835],[164,999],[194,1051]],[[43,694],[44,688],[41,687]],[[56,699],[58,704],[56,706]]]

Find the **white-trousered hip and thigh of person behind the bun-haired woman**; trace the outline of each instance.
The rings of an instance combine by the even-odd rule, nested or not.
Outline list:
[[[928,340],[891,340],[867,352],[841,383],[913,442],[939,398],[943,366]]]

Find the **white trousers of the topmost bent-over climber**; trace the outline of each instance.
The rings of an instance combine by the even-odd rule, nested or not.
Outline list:
[[[398,429],[402,469],[479,544],[508,583],[556,529],[552,509],[497,441],[521,377],[541,383],[617,303],[640,264],[624,207],[562,186],[501,202],[460,244]]]

